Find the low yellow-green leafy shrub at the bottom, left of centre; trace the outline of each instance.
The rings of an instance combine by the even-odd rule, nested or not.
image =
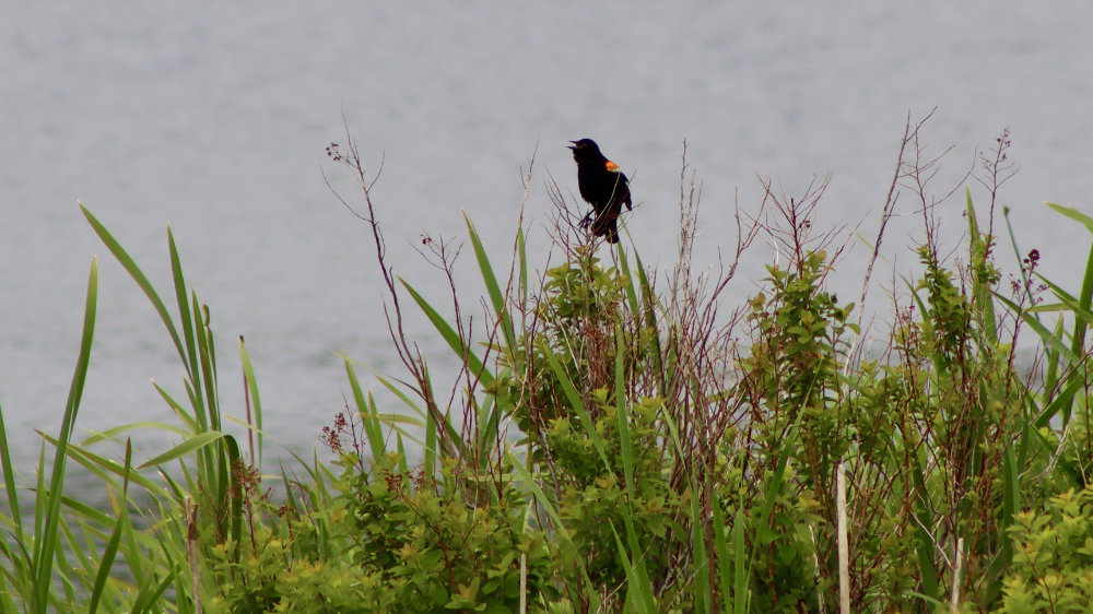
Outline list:
[[[346,453],[340,493],[298,512],[252,500],[250,536],[212,548],[213,603],[231,612],[512,612],[552,593],[545,535],[524,528],[520,501],[502,491],[474,505],[451,481],[401,472],[393,456],[361,472]],[[439,480],[447,480],[440,483]]]

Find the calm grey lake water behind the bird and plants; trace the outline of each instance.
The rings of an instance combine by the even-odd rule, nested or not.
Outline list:
[[[339,352],[400,375],[367,228],[322,177],[355,196],[324,154],[344,142],[343,114],[366,162],[384,163],[374,196],[391,263],[423,288],[444,283],[413,246],[425,231],[466,236],[465,212],[505,258],[532,155],[528,249],[541,262],[543,184],[550,174],[576,191],[564,145],[583,137],[632,176],[628,231],[648,263],[674,258],[684,139],[703,181],[700,265],[731,247],[733,200],[755,206],[756,173],[797,196],[830,173],[820,224],[860,223],[872,238],[908,111],[933,107],[927,154],[953,147],[939,193],[1009,127],[1020,173],[1000,203],[1022,249],[1038,248],[1044,270],[1071,284],[1089,249],[1084,228],[1042,204],[1093,213],[1089,2],[62,1],[3,12],[0,404],[27,473],[33,429],[56,433],[63,412],[96,255],[99,319],[78,426],[171,422],[150,378],[185,395],[155,312],[77,200],[164,293],[171,225],[212,309],[224,406],[243,414],[235,339],[246,335],[267,428],[284,449],[308,456],[344,406]],[[940,212],[953,238],[960,197]],[[884,244],[902,268],[915,260],[912,200]],[[459,275],[470,292],[468,256]],[[769,256],[756,246],[736,295],[754,291]],[[857,296],[867,257],[856,246],[834,280],[845,297]],[[877,274],[892,278],[890,267]],[[439,290],[428,295],[443,304]],[[427,323],[409,326],[443,365]],[[138,458],[162,451],[163,436],[144,435]]]

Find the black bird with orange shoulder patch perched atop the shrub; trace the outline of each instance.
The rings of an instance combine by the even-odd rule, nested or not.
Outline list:
[[[630,180],[619,165],[600,153],[599,145],[591,139],[569,141],[573,160],[577,162],[577,187],[580,198],[592,205],[592,213],[585,217],[591,222],[592,234],[607,238],[608,243],[619,243],[615,222],[622,213],[622,205],[633,211],[634,201],[630,197]],[[592,215],[595,214],[595,217]]]

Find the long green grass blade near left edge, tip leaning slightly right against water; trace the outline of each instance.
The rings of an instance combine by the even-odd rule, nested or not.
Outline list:
[[[54,470],[49,480],[48,494],[45,495],[45,507],[39,507],[37,512],[44,516],[36,519],[35,526],[40,529],[39,540],[34,544],[34,592],[31,598],[31,610],[45,612],[49,605],[50,587],[52,586],[52,570],[55,560],[60,560],[61,553],[58,548],[58,528],[63,522],[60,518],[61,496],[64,491],[64,464],[68,460],[68,444],[72,436],[72,426],[75,424],[77,412],[80,409],[80,400],[83,398],[83,387],[87,379],[87,366],[91,363],[91,346],[95,336],[95,312],[98,307],[98,260],[92,259],[91,274],[87,279],[87,299],[84,305],[83,334],[80,341],[80,355],[77,358],[75,373],[72,375],[72,385],[69,387],[68,401],[64,404],[64,416],[61,418],[61,430],[57,437],[57,451],[54,454]],[[45,464],[39,464],[45,468]],[[44,472],[39,472],[44,473]],[[43,497],[43,491],[38,497]]]

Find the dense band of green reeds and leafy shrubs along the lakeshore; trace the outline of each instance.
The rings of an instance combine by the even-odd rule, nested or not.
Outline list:
[[[908,126],[905,147],[917,134]],[[224,430],[208,307],[174,238],[173,312],[84,210],[178,353],[186,397],[160,389],[174,415],[160,427],[179,444],[134,464],[94,451],[130,425],[73,440],[93,262],[64,420],[31,487],[17,484],[0,420],[0,610],[1083,611],[1093,251],[1078,292],[1039,275],[1035,250],[1003,282],[994,227],[1007,147],[1003,134],[982,161],[984,212],[965,192],[967,239],[951,258],[935,234],[932,163],[901,151],[893,191],[921,201],[921,272],[890,288],[889,323],[863,334],[860,306],[825,287],[844,237],[814,228],[822,189],[786,200],[767,186],[761,209],[738,215],[731,260],[700,273],[693,175],[681,176],[680,257],[666,271],[589,246],[567,213],[576,204],[553,187],[561,261],[536,278],[521,228],[498,275],[468,221],[486,292],[467,303],[453,283],[442,308],[393,274],[372,177],[352,141],[332,145],[360,180],[404,366],[379,382],[401,406],[378,406],[346,358],[352,406],[322,432],[334,461],[298,459],[277,475],[262,473],[261,398],[242,340],[247,450]],[[1093,231],[1093,219],[1050,206]],[[777,263],[733,306],[729,282],[757,237]],[[448,281],[456,251],[423,249]],[[472,335],[466,305],[480,303],[487,323]],[[450,346],[454,382],[435,381],[404,335],[414,311]],[[1031,347],[1021,369],[1019,334]],[[66,488],[71,463],[102,481],[110,509]]]

